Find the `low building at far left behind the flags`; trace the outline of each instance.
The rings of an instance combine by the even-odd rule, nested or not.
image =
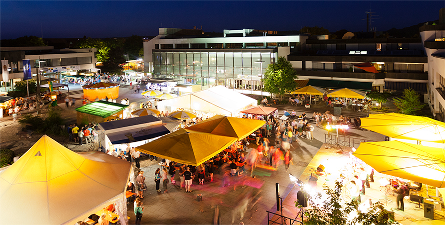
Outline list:
[[[24,59],[30,60],[33,77],[37,76],[40,66],[43,76],[41,80],[61,79],[62,76],[76,75],[80,72],[95,72],[97,62],[95,52],[95,48],[54,49],[52,46],[2,47],[0,51],[1,59],[8,60],[9,65],[9,81],[6,82],[12,84],[23,79]]]

